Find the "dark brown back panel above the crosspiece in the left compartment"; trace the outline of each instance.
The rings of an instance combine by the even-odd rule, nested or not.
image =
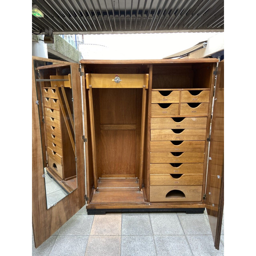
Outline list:
[[[100,90],[100,124],[136,124],[134,89]]]

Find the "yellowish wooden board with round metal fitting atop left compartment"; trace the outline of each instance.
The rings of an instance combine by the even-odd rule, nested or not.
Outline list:
[[[144,74],[118,74],[119,83],[114,82],[116,74],[88,74],[91,79],[92,88],[143,88]],[[89,88],[89,87],[88,87]]]

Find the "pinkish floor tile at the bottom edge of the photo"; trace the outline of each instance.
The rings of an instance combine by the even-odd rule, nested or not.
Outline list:
[[[120,256],[121,236],[89,236],[85,256]]]

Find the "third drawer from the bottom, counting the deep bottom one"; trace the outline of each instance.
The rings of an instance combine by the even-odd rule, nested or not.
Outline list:
[[[150,174],[203,173],[204,164],[150,164]]]

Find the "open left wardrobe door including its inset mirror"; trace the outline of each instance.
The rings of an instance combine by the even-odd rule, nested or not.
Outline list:
[[[32,226],[36,248],[85,204],[78,70],[77,63],[32,57]],[[51,201],[49,195],[54,190],[63,196]]]

